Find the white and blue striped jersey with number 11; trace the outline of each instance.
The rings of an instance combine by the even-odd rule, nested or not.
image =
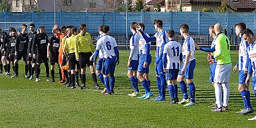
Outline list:
[[[180,58],[182,56],[182,45],[175,40],[170,40],[164,46],[164,54],[167,54],[167,69],[180,69]]]

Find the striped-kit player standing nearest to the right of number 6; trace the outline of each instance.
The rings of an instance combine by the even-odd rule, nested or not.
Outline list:
[[[138,70],[140,35],[136,31],[136,26],[137,26],[136,22],[132,22],[130,24],[130,31],[132,32],[132,37],[130,38],[130,56],[127,62],[127,66],[128,66],[127,76],[130,79],[130,82],[134,88],[134,92],[132,94],[128,94],[128,96],[131,96],[131,97],[135,97],[139,95],[137,70]]]

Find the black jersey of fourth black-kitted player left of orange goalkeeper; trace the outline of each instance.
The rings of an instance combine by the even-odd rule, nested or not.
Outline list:
[[[17,50],[19,50],[20,52],[27,52],[28,45],[29,45],[29,34],[27,33],[20,34],[16,44]]]

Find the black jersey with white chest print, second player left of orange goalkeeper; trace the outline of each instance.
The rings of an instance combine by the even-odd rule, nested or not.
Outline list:
[[[35,34],[33,38],[32,52],[34,54],[47,54],[47,42],[49,42],[47,34]]]

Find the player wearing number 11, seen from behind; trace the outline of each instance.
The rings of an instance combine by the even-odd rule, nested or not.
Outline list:
[[[180,71],[182,62],[182,45],[174,40],[175,33],[173,30],[168,31],[169,42],[164,46],[163,68],[166,72],[168,90],[172,98],[169,103],[178,103],[178,86],[176,80]],[[167,62],[167,65],[166,65]]]

